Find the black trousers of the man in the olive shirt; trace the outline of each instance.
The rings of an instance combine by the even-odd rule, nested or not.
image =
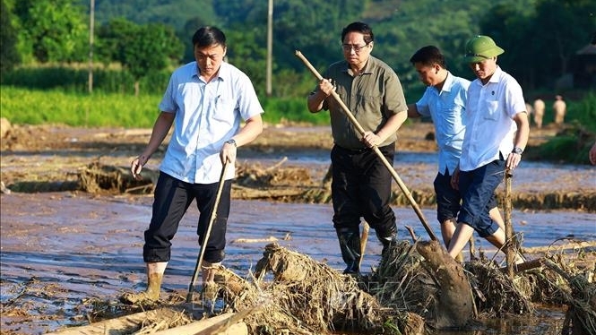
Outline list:
[[[379,148],[393,165],[395,144]],[[376,230],[377,236],[395,231],[395,214],[389,206],[391,172],[371,149],[348,150],[338,145],[331,151],[333,164],[333,227],[356,228],[360,218]]]

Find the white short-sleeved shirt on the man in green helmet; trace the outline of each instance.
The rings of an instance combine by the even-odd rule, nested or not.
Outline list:
[[[466,104],[466,133],[460,169],[471,171],[514,149],[514,116],[525,111],[520,84],[499,66],[486,85],[471,82]]]

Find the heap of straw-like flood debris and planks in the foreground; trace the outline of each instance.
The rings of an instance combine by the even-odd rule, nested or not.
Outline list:
[[[402,240],[388,248],[371,273],[350,276],[272,243],[244,277],[223,266],[216,269],[218,290],[213,298],[225,302],[217,313],[203,308],[203,296],[189,305],[175,291],[145,306],[94,298],[83,302],[91,311],[87,322],[79,324],[87,324],[56,333],[186,334],[204,327],[221,331],[225,322],[197,322],[227,314],[229,326],[242,323],[238,332],[232,332],[238,334],[432,334],[471,330],[496,317],[528,318],[535,315],[537,305],[550,305],[567,307],[561,335],[592,334],[596,250],[569,250],[528,253],[530,262],[540,266],[518,270],[511,279],[494,258],[481,253],[460,263],[436,241]],[[3,318],[22,313],[19,300],[35,285],[31,280],[13,289],[13,298],[2,304]],[[52,289],[45,287],[44,294],[51,295]],[[189,332],[182,331],[186,329]]]

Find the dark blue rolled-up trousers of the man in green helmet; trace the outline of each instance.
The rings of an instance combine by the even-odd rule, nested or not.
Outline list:
[[[488,215],[490,199],[505,176],[505,160],[497,159],[471,171],[460,171],[462,210],[457,222],[474,228],[481,237],[495,234],[498,225]],[[494,206],[492,206],[494,207]]]

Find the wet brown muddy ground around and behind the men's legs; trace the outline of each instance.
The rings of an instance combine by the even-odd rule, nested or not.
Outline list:
[[[438,233],[432,199],[436,174],[432,131],[430,124],[404,126],[394,166]],[[143,288],[140,250],[143,228],[151,215],[151,173],[144,175],[149,186],[125,180],[118,187],[92,190],[82,185],[86,180],[82,176],[97,176],[98,169],[93,167],[99,171],[108,167],[122,168],[117,176],[126,179],[126,168],[143,150],[150,133],[148,129],[3,125],[0,332],[43,333],[84,323],[91,317],[86,314],[89,297]],[[532,131],[530,146],[555,133],[554,129]],[[239,213],[232,218],[229,268],[246,271],[258,260],[263,245],[286,237],[290,237],[287,245],[298,251],[341,266],[329,224],[329,194],[322,187],[331,146],[328,127],[287,125],[268,126],[254,143],[239,149],[233,189]],[[162,154],[153,156],[147,171],[157,171]],[[514,176],[514,221],[530,231],[543,228],[540,236],[529,241],[530,246],[548,245],[555,238],[593,241],[596,168],[536,161],[524,164]],[[408,203],[400,198],[400,190],[394,188],[398,217],[424,235]],[[553,216],[548,214],[551,210],[563,211]],[[184,293],[188,272],[194,267],[197,250],[191,218],[195,211],[191,208],[179,231],[176,256],[164,284],[168,292]],[[537,228],[529,228],[534,221],[538,221]],[[563,221],[570,226],[561,227]],[[262,228],[251,226],[255,222]],[[290,228],[295,223],[303,226]],[[260,242],[243,244],[240,240],[246,238]],[[371,243],[369,248],[367,268],[378,261],[375,255],[380,253],[380,245]],[[519,328],[516,331],[512,333],[520,333]],[[543,333],[557,333],[550,331]]]

